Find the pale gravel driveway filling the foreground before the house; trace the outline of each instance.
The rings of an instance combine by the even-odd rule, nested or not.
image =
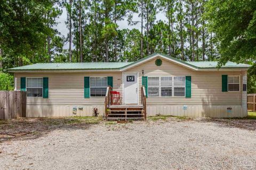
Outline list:
[[[255,128],[177,118],[60,126],[0,143],[0,169],[256,169]]]

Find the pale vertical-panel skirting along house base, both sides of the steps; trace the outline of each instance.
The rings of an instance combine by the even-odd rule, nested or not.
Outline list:
[[[95,106],[27,106],[27,117],[69,117],[92,116],[93,108],[98,108],[100,115],[104,114],[104,105]],[[229,109],[227,109],[229,108]],[[231,109],[230,109],[231,108]],[[189,117],[246,117],[246,106],[147,106],[147,116],[172,115]]]

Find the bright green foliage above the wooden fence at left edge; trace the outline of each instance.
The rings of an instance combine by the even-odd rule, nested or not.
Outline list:
[[[0,72],[0,90],[13,90],[13,76]]]

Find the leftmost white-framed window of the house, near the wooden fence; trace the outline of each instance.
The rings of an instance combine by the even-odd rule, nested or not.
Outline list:
[[[43,78],[27,78],[27,97],[43,97]]]

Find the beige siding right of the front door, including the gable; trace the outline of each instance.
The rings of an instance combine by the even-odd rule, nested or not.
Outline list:
[[[148,97],[147,105],[210,105],[210,106],[241,106],[242,75],[245,72],[220,72],[220,71],[193,71],[178,64],[164,60],[161,66],[155,65],[155,60],[133,67],[125,72],[139,72],[139,87],[141,87],[142,73],[145,76],[191,76],[191,98],[185,97]],[[222,92],[221,75],[241,75],[241,88],[238,92]],[[140,91],[141,93],[141,91]],[[245,98],[245,95],[243,95]],[[244,101],[244,100],[243,100]]]

